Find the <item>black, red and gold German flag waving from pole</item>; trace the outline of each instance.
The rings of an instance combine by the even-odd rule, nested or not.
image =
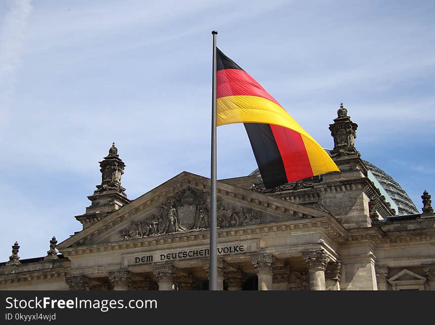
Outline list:
[[[217,126],[243,123],[266,188],[340,171],[261,85],[217,48]]]

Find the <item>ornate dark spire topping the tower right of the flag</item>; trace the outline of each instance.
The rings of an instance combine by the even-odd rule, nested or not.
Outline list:
[[[359,157],[360,153],[354,146],[358,125],[350,120],[348,110],[343,106],[343,103],[337,111],[337,116],[334,123],[329,125],[331,136],[334,138],[334,149],[331,150],[331,156],[356,155]]]

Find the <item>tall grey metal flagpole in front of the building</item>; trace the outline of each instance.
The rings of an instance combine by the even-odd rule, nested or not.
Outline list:
[[[216,163],[216,35],[213,31],[213,77],[212,77],[212,161],[210,175],[210,266],[209,290],[217,290],[217,163]]]

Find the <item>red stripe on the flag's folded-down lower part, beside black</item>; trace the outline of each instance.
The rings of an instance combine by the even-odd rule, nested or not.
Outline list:
[[[287,175],[293,182],[312,177],[313,172],[300,133],[278,125],[270,125]]]

